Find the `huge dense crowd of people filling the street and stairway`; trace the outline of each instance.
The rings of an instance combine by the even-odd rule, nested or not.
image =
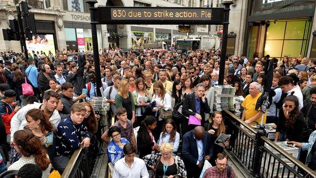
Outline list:
[[[259,123],[263,115],[264,123],[275,123],[275,141],[301,147],[300,160],[316,170],[315,58],[247,59],[243,54],[220,59],[220,50],[212,49],[100,50],[100,89],[110,103],[108,117],[115,117],[101,136],[96,134],[100,116],[89,103],[100,80],[93,55],[33,51],[26,59],[24,53],[10,53],[0,53],[0,173],[30,163],[39,166],[42,178],[51,170],[62,174],[74,151],[99,136],[108,144],[114,178],[234,178],[224,153],[230,141],[215,143],[230,130],[222,113],[213,109],[221,60],[224,85],[244,97],[240,119]],[[262,114],[255,105],[267,83],[267,60],[274,62],[276,95]],[[34,95],[25,94],[23,84]],[[205,162],[213,167],[203,170]]]

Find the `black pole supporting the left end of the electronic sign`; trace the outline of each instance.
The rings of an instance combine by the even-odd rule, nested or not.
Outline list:
[[[97,85],[97,96],[102,96],[100,88],[102,88],[101,83],[101,72],[100,72],[100,59],[99,59],[99,47],[98,47],[98,36],[97,36],[97,24],[96,22],[96,12],[97,9],[94,7],[94,4],[97,3],[97,0],[86,0],[85,3],[89,4],[90,10],[90,19],[91,19],[91,33],[92,33],[92,47],[93,47],[93,58],[94,58],[94,70],[95,70],[95,79]]]

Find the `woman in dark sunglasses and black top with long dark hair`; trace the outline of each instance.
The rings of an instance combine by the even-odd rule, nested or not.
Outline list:
[[[294,91],[285,97],[280,109],[275,141],[302,141],[304,115],[299,110],[298,99],[293,93]]]

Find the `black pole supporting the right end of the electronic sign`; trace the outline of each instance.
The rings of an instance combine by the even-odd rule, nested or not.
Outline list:
[[[222,50],[221,50],[221,61],[220,61],[220,66],[219,66],[218,85],[224,84],[229,11],[231,10],[229,6],[233,4],[233,1],[223,1],[222,4],[225,5],[225,7],[224,7],[223,40],[222,40]]]

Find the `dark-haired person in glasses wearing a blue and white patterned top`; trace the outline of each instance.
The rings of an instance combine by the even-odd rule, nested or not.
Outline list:
[[[112,138],[108,145],[108,158],[115,165],[119,159],[124,157],[123,147],[129,142],[126,138],[120,136],[120,129],[117,126],[110,127],[108,135]]]

